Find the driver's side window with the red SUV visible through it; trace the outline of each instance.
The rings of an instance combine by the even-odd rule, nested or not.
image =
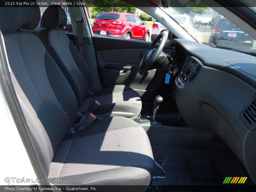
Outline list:
[[[86,8],[95,36],[153,41],[165,29],[161,23],[154,23],[155,19],[139,8],[128,4],[118,7],[118,0],[113,1],[116,4],[113,7],[108,7],[107,3],[103,7],[105,1],[100,2],[102,2],[101,6],[87,4],[91,7]],[[122,3],[122,5],[125,4]],[[143,22],[146,24],[143,25]],[[136,26],[136,23],[140,25],[140,28]]]

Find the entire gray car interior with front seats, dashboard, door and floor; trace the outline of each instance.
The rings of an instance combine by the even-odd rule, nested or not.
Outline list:
[[[93,35],[87,10],[68,9],[73,32],[61,6],[42,18],[38,6],[0,8],[15,116],[46,178],[141,191],[256,183],[255,56],[179,38],[180,26],[153,42]]]

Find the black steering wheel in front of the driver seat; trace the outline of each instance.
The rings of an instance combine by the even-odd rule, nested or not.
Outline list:
[[[139,66],[140,75],[144,75],[145,73],[147,73],[148,70],[152,69],[152,66],[156,63],[159,55],[164,49],[164,44],[167,41],[167,37],[168,37],[168,32],[163,31],[150,44],[150,46],[148,47],[148,50],[146,51],[145,55],[143,56],[140,62],[140,66]],[[161,42],[158,48],[156,49],[155,46],[158,43],[158,41],[160,41],[160,39],[161,39]]]

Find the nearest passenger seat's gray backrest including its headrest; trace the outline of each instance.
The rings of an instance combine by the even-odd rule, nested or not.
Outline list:
[[[6,19],[7,18],[7,19]],[[48,174],[52,157],[75,122],[75,94],[60,68],[34,34],[39,7],[1,7],[12,83],[41,161]]]

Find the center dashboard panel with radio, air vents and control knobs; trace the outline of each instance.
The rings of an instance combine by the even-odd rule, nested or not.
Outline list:
[[[180,87],[188,86],[196,78],[202,66],[203,63],[200,60],[190,56],[179,76],[176,78],[176,83]]]

